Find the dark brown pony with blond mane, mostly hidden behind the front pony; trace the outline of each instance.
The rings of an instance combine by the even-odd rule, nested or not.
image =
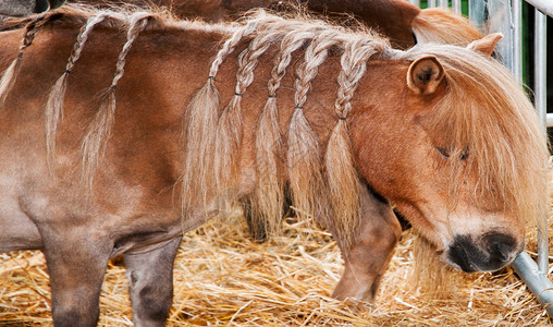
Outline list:
[[[228,21],[255,8],[276,11],[302,4],[311,12],[347,23],[354,19],[390,38],[393,47],[407,49],[418,43],[467,46],[482,38],[468,20],[442,9],[425,9],[406,0],[74,0],[99,7],[137,4],[168,8],[180,17]],[[352,24],[352,22],[349,22]]]

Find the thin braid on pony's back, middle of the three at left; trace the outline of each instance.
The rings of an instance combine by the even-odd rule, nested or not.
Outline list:
[[[77,36],[76,43],[73,46],[73,51],[67,59],[65,71],[58,78],[56,84],[48,95],[48,101],[46,104],[46,148],[47,148],[47,162],[48,167],[52,169],[52,165],[56,158],[56,134],[59,122],[63,119],[63,99],[65,97],[65,89],[67,88],[67,77],[75,62],[81,58],[81,53],[85,47],[88,36],[93,32],[93,28],[101,23],[106,17],[107,13],[100,13],[96,16],[88,19],[85,25],[81,28]]]

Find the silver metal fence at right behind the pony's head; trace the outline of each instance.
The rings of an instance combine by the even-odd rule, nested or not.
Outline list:
[[[468,17],[484,34],[500,32],[504,38],[495,49],[502,62],[523,83],[523,1],[533,7],[533,96],[534,106],[544,128],[553,126],[553,113],[546,110],[546,16],[553,17],[553,0],[468,0]],[[420,0],[409,0],[420,7]],[[462,0],[427,0],[428,8],[447,8],[462,13]],[[465,12],[467,14],[467,12]],[[553,317],[553,283],[548,278],[549,240],[548,216],[538,219],[538,263],[528,253],[518,255],[512,264],[530,291]]]

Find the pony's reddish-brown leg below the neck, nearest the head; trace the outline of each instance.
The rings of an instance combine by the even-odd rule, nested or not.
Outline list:
[[[341,246],[345,269],[332,296],[373,302],[382,275],[402,234],[390,205],[361,185],[359,231],[348,249]]]

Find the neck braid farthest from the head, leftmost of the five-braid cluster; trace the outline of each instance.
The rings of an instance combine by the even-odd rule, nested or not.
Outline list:
[[[219,66],[225,58],[236,49],[238,43],[256,32],[257,24],[262,19],[254,19],[245,26],[236,29],[233,35],[226,39],[221,50],[211,62],[209,75],[206,84],[194,95],[188,102],[183,122],[183,148],[184,150],[184,172],[182,178],[182,207],[183,217],[186,217],[186,208],[192,204],[201,204],[206,208],[208,190],[213,190],[217,183],[217,172],[214,171],[217,134],[219,122],[219,90],[214,81]],[[221,190],[223,191],[223,190]],[[216,194],[220,193],[216,191]],[[216,195],[212,194],[212,195]]]

